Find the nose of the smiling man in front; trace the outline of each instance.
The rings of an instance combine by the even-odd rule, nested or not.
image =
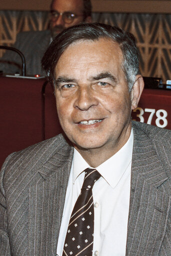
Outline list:
[[[80,110],[88,110],[92,106],[97,106],[98,100],[90,88],[79,88],[74,102],[74,107]]]

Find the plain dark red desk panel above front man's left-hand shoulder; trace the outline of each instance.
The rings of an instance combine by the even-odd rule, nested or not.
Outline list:
[[[43,139],[44,81],[0,77],[0,166],[8,154]]]

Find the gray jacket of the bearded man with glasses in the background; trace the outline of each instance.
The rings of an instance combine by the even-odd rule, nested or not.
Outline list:
[[[26,62],[26,75],[45,75],[41,69],[41,58],[50,43],[50,31],[29,31],[21,32],[16,37],[13,45],[23,53]],[[6,51],[0,59],[0,70],[4,73],[21,74],[21,59],[12,51]]]

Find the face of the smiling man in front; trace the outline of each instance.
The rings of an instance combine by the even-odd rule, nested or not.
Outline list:
[[[122,53],[108,39],[78,41],[61,55],[55,68],[60,124],[80,150],[116,152],[130,130],[132,93],[122,69]]]

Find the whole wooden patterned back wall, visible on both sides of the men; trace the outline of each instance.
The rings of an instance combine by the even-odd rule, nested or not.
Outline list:
[[[94,22],[120,27],[135,36],[143,76],[161,77],[163,82],[171,79],[171,15],[93,13],[92,17]],[[18,32],[47,26],[47,12],[0,11],[0,45],[12,45]]]

